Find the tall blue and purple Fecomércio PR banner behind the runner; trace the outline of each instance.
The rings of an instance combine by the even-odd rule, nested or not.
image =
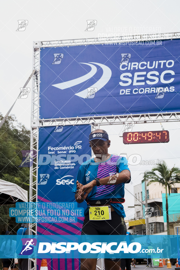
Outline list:
[[[48,207],[51,218],[37,224],[37,234],[43,235],[80,235],[84,217],[77,215],[75,219],[59,220],[58,210],[64,209],[68,218],[68,211],[83,210],[86,203],[77,204],[72,187],[82,162],[89,160],[91,150],[88,143],[90,125],[57,126],[39,128],[39,160],[38,160],[38,201]],[[51,202],[53,202],[51,204]],[[59,203],[57,203],[59,202]],[[66,202],[66,203],[64,203]],[[51,215],[51,211],[53,214]],[[39,212],[41,214],[43,212]],[[83,213],[79,212],[78,213]],[[42,218],[43,215],[41,214]],[[64,218],[64,217],[61,217]],[[67,221],[67,222],[66,222]],[[37,260],[40,264],[41,260]],[[78,259],[53,259],[48,262],[52,269],[77,269]]]

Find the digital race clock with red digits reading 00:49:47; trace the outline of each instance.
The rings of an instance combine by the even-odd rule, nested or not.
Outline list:
[[[127,144],[139,144],[139,143],[157,143],[168,142],[169,131],[140,131],[140,132],[124,132],[123,143]]]

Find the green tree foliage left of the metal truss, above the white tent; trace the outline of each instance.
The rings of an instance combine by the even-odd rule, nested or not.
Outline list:
[[[0,114],[0,120],[2,118]],[[30,150],[30,130],[11,115],[0,129],[0,179],[15,183],[29,193],[29,168],[18,168],[22,160],[21,150]],[[14,206],[0,206],[1,234],[4,230],[16,234],[21,225],[15,222],[15,218],[9,217],[9,208]]]

